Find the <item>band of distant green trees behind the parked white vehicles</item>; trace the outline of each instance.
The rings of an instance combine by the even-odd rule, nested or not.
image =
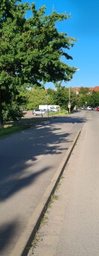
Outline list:
[[[59,105],[61,109],[68,109],[69,101],[69,88],[62,86],[61,83],[55,84],[56,90],[53,89],[32,89],[28,91],[21,92],[21,95],[25,98],[25,104],[23,104],[23,109],[34,109],[38,108],[39,105]],[[74,106],[79,107],[91,105],[96,107],[99,105],[99,92],[92,92],[90,94],[89,90],[84,89],[80,91],[78,95],[71,88],[71,110]]]

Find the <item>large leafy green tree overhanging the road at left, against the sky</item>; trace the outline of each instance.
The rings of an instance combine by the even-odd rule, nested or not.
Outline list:
[[[0,9],[0,122],[3,123],[5,106],[12,101],[21,103],[22,98],[16,97],[20,90],[41,86],[42,82],[71,80],[76,68],[61,58],[72,59],[68,50],[75,39],[58,33],[55,27],[56,21],[66,20],[70,15],[53,11],[46,16],[45,6],[37,11],[34,3],[29,6],[16,0],[1,0]],[[32,14],[28,19],[27,11]]]

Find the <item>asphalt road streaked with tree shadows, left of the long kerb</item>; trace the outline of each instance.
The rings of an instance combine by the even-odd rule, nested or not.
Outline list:
[[[0,140],[0,256],[13,251],[86,120],[86,111],[80,111]]]

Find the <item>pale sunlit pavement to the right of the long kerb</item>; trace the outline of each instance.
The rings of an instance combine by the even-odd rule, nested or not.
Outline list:
[[[28,256],[99,255],[99,113],[87,117]]]

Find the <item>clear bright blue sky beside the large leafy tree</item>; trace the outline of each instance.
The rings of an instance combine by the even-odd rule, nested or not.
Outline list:
[[[25,0],[23,2],[26,2]],[[31,0],[28,1],[31,4]],[[58,22],[59,32],[68,33],[77,39],[69,54],[73,61],[65,61],[77,67],[71,80],[72,87],[99,86],[99,0],[37,0],[36,8],[46,5],[46,14],[52,9],[58,13],[71,14],[71,19]],[[62,83],[70,86],[70,83]],[[47,83],[46,88],[54,87]]]

